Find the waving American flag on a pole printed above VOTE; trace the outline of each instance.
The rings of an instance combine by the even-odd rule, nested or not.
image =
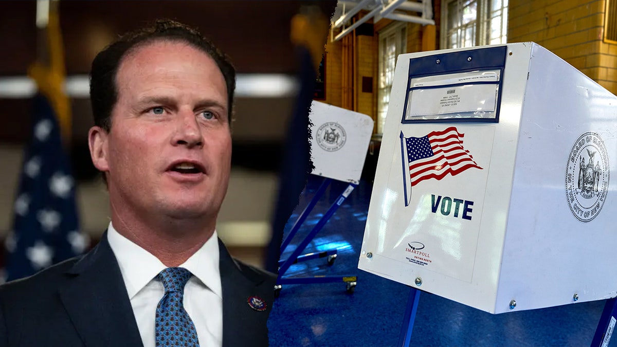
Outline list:
[[[473,167],[482,169],[469,151],[463,148],[463,137],[465,135],[459,133],[456,127],[430,132],[422,137],[405,137],[400,132],[405,206],[411,199],[412,186],[423,180],[441,180],[448,174],[455,176]]]

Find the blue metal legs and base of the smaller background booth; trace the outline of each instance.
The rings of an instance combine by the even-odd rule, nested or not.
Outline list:
[[[307,207],[305,207],[304,211],[302,211],[302,213],[296,220],[296,223],[294,223],[293,227],[291,228],[289,235],[283,240],[283,243],[281,243],[281,253],[283,253],[283,250],[289,245],[289,243],[291,242],[291,239],[294,237],[294,235],[296,235],[296,233],[300,229],[300,226],[307,219],[307,217],[309,216],[310,212],[313,210],[313,207],[315,207],[319,199],[321,199],[321,196],[323,196],[323,194],[325,193],[330,183],[332,183],[331,178],[325,178],[323,183],[321,183],[321,186],[315,193],[315,196],[313,196],[313,198],[311,199]],[[276,280],[277,284],[282,285],[282,284],[298,284],[298,283],[306,284],[306,283],[356,282],[357,275],[286,277],[286,278],[283,278],[283,275],[285,274],[285,272],[287,272],[287,270],[289,269],[289,267],[291,267],[292,264],[296,264],[297,262],[307,261],[310,259],[316,259],[318,257],[326,257],[332,254],[336,254],[336,249],[330,249],[328,251],[300,255],[300,253],[302,253],[304,249],[307,248],[310,241],[312,241],[313,238],[315,238],[315,235],[317,235],[317,233],[324,227],[324,225],[326,225],[326,222],[328,222],[328,220],[330,219],[330,217],[332,217],[334,212],[336,212],[336,210],[341,206],[341,204],[343,203],[343,201],[345,201],[347,196],[349,196],[349,193],[351,193],[351,191],[354,190],[354,188],[357,186],[358,185],[354,183],[349,183],[347,188],[341,194],[339,194],[336,201],[334,201],[334,203],[329,207],[328,211],[323,215],[323,217],[321,217],[321,219],[319,220],[319,222],[317,222],[315,227],[312,228],[312,230],[309,232],[309,235],[305,236],[304,240],[302,240],[300,244],[296,247],[296,249],[294,249],[291,256],[289,256],[287,259],[279,261],[280,267],[278,270],[278,279]]]

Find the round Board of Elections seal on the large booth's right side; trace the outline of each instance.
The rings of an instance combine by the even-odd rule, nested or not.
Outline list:
[[[566,165],[566,198],[576,219],[590,222],[600,214],[607,199],[609,174],[607,146],[600,135],[582,134]]]

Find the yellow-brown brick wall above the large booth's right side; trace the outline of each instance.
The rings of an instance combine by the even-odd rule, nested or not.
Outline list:
[[[508,42],[534,41],[617,93],[617,45],[603,43],[604,0],[511,0]]]

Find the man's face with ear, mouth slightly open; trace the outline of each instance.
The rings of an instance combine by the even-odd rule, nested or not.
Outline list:
[[[155,41],[123,59],[116,86],[110,132],[90,132],[112,207],[142,218],[199,217],[214,227],[231,165],[227,90],[217,64],[188,44]]]

